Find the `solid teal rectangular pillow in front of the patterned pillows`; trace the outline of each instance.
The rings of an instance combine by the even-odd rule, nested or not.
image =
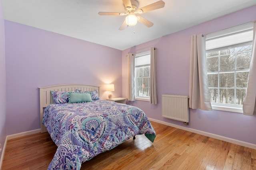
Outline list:
[[[90,93],[69,92],[68,99],[68,103],[92,102],[92,96]]]

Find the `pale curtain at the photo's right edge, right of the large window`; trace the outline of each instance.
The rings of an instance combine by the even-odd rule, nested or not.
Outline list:
[[[243,112],[244,115],[252,116],[256,114],[256,21],[253,25],[253,43],[252,43],[252,57],[249,68],[248,83],[246,89],[246,96],[244,98]]]

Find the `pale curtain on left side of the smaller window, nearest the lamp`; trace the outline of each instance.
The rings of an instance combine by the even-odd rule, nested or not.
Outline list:
[[[127,98],[128,101],[135,100],[135,84],[134,84],[134,72],[135,72],[135,55],[129,53],[128,58],[128,84],[127,84]]]

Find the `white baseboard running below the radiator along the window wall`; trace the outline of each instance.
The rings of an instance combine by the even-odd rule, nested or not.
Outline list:
[[[243,147],[248,147],[248,148],[251,148],[251,149],[256,149],[256,145],[252,144],[252,143],[247,143],[247,142],[244,142],[244,141],[238,141],[236,139],[232,139],[232,138],[216,135],[216,134],[213,134],[213,133],[199,131],[199,130],[196,130],[196,129],[192,129],[192,128],[189,128],[189,127],[184,127],[184,126],[176,125],[176,124],[173,124],[173,123],[167,123],[165,121],[160,121],[160,120],[151,119],[151,118],[148,118],[148,119],[150,121],[154,121],[154,122],[161,123],[163,125],[167,125],[167,126],[171,126],[171,127],[176,127],[178,129],[182,129],[182,130],[185,130],[185,131],[197,133],[199,135],[204,135],[204,136],[207,136],[207,137],[212,137],[214,139],[219,139],[221,141],[225,141],[225,142],[229,142],[229,143],[234,143],[236,145],[241,145]]]

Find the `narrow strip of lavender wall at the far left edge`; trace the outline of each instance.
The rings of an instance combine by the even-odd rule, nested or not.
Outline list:
[[[5,74],[5,38],[4,15],[0,2],[0,144],[4,147],[6,139],[6,74]],[[0,152],[0,158],[3,152]],[[1,164],[1,163],[0,163]]]

